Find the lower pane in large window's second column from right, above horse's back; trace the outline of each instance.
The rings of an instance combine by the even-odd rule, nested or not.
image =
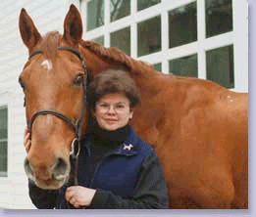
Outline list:
[[[169,71],[176,75],[197,77],[197,54],[170,61]]]

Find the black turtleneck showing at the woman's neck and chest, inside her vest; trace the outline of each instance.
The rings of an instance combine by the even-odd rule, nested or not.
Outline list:
[[[107,131],[98,125],[93,127],[91,155],[94,166],[102,159],[104,154],[115,150],[128,137],[128,125],[115,131]]]

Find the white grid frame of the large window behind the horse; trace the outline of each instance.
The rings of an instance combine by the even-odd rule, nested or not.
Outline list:
[[[104,25],[86,31],[86,7],[89,0],[80,5],[83,19],[83,38],[91,40],[104,36],[104,46],[110,47],[110,33],[130,26],[130,56],[151,64],[162,64],[162,71],[168,73],[169,61],[197,54],[198,78],[206,79],[206,52],[233,45],[234,88],[248,92],[248,2],[232,0],[232,31],[206,38],[205,0],[162,0],[161,3],[137,12],[137,0],[130,1],[130,15],[116,22],[110,22],[110,0],[104,1]],[[169,49],[168,12],[192,2],[197,2],[197,41]],[[137,57],[137,23],[161,15],[162,50]]]

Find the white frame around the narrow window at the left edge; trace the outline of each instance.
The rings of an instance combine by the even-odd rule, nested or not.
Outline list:
[[[0,176],[0,180],[6,180],[9,178],[9,171],[10,171],[10,95],[8,92],[0,93],[0,108],[7,108],[7,130],[8,130],[8,138],[7,138],[7,172],[0,172],[6,176]]]

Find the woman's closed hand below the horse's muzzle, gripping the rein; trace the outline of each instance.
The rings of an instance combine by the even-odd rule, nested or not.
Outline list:
[[[66,200],[73,204],[76,208],[78,206],[89,206],[96,193],[94,189],[88,189],[81,186],[72,186],[66,190]]]

